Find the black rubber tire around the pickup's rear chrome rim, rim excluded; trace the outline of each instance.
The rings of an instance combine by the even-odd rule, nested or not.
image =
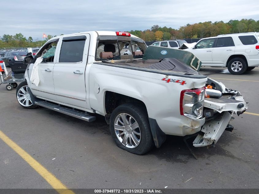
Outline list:
[[[139,129],[141,132],[141,140],[139,145],[136,148],[128,148],[120,143],[114,131],[114,121],[116,116],[120,113],[127,113],[134,117],[136,122],[139,124]],[[150,125],[148,122],[147,113],[142,109],[133,104],[124,104],[120,105],[112,112],[110,117],[110,132],[112,135],[112,139],[115,141],[116,145],[120,148],[127,150],[133,154],[142,155],[147,153],[153,146],[154,141],[150,130]]]

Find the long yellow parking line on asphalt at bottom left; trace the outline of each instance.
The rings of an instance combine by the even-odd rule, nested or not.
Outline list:
[[[60,194],[74,194],[73,191],[67,189],[53,174],[51,174],[43,165],[32,158],[25,150],[14,143],[0,130],[0,139],[2,139],[10,148],[19,154],[37,173],[40,174],[58,193]]]

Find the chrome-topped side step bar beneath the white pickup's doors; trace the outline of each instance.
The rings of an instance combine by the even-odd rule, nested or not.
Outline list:
[[[96,119],[95,116],[91,116],[87,113],[80,112],[80,111],[77,111],[77,110],[73,110],[71,108],[61,107],[59,105],[55,105],[55,104],[52,104],[52,103],[46,102],[46,101],[35,101],[35,104],[39,105],[39,106],[43,106],[45,108],[49,108],[51,110],[55,110],[57,112],[61,112],[63,114],[69,115],[69,116],[73,116],[73,117],[78,118],[78,119],[88,121],[88,122],[95,121],[95,119]]]

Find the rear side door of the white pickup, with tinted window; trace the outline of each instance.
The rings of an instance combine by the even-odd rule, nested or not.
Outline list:
[[[57,101],[86,109],[86,63],[90,35],[63,37],[53,69]]]

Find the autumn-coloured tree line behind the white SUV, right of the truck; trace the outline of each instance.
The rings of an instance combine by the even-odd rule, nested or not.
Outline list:
[[[226,23],[223,21],[215,21],[214,23],[211,21],[205,21],[195,24],[187,24],[185,26],[181,26],[179,29],[153,25],[151,29],[144,31],[131,30],[129,32],[145,41],[207,38],[218,36],[219,34],[259,32],[259,20],[230,20]]]

